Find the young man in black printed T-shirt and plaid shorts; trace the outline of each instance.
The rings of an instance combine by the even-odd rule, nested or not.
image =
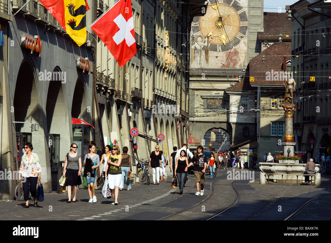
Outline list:
[[[198,153],[193,156],[191,163],[188,164],[188,166],[185,168],[185,171],[187,171],[187,168],[189,168],[191,165],[194,165],[194,178],[195,178],[195,184],[197,187],[197,192],[195,193],[196,196],[202,196],[204,194],[204,187],[205,187],[205,172],[207,167],[207,157],[202,152],[204,151],[204,147],[199,145]],[[200,190],[200,184],[201,184],[201,190]]]

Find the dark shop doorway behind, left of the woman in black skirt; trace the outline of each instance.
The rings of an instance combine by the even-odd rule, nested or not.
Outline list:
[[[58,190],[58,168],[60,161],[60,135],[48,134],[49,162],[51,167],[52,191]]]

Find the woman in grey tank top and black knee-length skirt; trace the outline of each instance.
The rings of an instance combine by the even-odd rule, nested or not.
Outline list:
[[[67,178],[66,186],[68,186],[67,203],[76,202],[78,177],[80,176],[80,170],[82,168],[82,159],[80,157],[80,154],[78,154],[76,150],[77,150],[77,144],[71,143],[70,153],[67,153],[66,162],[63,168],[63,176]],[[73,186],[72,200],[71,200],[71,186]]]

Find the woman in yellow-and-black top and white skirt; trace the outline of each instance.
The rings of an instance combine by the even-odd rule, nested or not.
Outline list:
[[[122,155],[120,154],[117,145],[112,146],[112,153],[108,157],[106,165],[106,178],[108,178],[109,188],[112,190],[114,197],[113,205],[118,205],[118,191],[123,189],[122,170],[121,170]]]

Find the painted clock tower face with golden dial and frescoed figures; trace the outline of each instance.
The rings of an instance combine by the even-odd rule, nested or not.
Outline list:
[[[238,68],[247,59],[248,0],[210,0],[191,32],[192,68]]]

